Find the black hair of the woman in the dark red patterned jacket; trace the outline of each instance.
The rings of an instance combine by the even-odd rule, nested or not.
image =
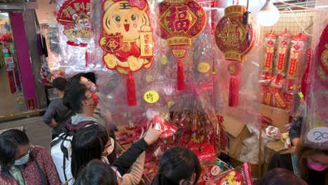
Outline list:
[[[15,163],[15,155],[18,146],[29,144],[29,138],[25,132],[17,129],[6,130],[0,135],[0,165],[5,170]]]

